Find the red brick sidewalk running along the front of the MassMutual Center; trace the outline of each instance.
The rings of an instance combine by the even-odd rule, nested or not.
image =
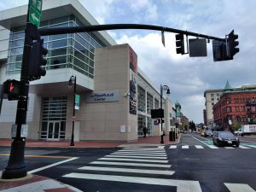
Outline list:
[[[169,141],[169,136],[164,136],[164,143],[160,143],[160,136],[138,137],[137,141],[131,143],[111,142],[111,141],[86,141],[75,142],[74,146],[70,146],[70,142],[52,142],[52,141],[32,141],[26,140],[26,148],[130,148],[130,147],[157,147],[166,144],[175,144],[179,142],[179,138],[175,142]],[[11,140],[0,140],[0,146],[10,147]]]

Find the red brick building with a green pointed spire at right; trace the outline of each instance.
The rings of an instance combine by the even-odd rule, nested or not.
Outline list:
[[[213,106],[214,123],[229,128],[235,125],[256,124],[256,85],[233,89],[227,81],[220,100]]]

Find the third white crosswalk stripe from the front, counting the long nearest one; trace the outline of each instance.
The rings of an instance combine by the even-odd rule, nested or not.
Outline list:
[[[126,163],[126,162],[111,162],[111,161],[93,161],[93,162],[90,162],[90,164],[114,165],[114,166],[149,166],[149,167],[162,167],[162,168],[171,167],[171,165],[149,164],[149,163]]]

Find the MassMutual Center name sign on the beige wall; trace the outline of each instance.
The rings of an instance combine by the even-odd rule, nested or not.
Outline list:
[[[86,94],[85,102],[119,102],[119,91],[92,92]]]

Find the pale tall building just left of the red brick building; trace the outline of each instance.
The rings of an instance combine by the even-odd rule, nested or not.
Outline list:
[[[208,127],[212,127],[214,125],[213,122],[213,111],[212,107],[219,101],[220,95],[223,93],[222,89],[218,90],[205,90],[204,97],[206,99],[206,113],[204,112],[205,125]]]

